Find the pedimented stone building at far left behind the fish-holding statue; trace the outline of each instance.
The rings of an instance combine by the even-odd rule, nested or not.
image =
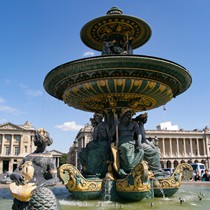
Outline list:
[[[30,122],[24,125],[4,123],[0,125],[0,174],[5,171],[14,171],[22,159],[32,153],[34,146],[35,128]],[[55,165],[59,167],[63,153],[52,150]]]

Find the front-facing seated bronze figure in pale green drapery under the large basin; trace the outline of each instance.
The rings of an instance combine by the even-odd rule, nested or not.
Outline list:
[[[112,132],[113,137],[116,136],[116,126],[118,129],[117,138],[119,138],[117,140],[119,158],[114,159],[119,161],[116,164],[119,165],[119,168],[115,168],[115,170],[121,177],[124,177],[143,160],[142,135],[138,124],[132,121],[132,111],[130,109],[122,109],[119,124],[114,125],[112,129],[114,131]]]

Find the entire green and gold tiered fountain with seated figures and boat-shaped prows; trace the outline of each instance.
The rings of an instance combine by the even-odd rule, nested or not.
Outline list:
[[[139,201],[151,193],[152,182],[154,196],[173,195],[183,169],[191,169],[182,165],[171,177],[164,177],[154,139],[143,140],[144,128],[132,114],[158,108],[182,94],[192,83],[191,75],[175,62],[133,54],[133,49],[150,39],[151,29],[117,7],[85,24],[80,36],[101,55],[62,64],[44,80],[44,88],[53,97],[95,113],[90,119],[93,141],[78,157],[82,171],[61,166],[64,184],[79,200],[101,196],[114,200],[117,195]]]

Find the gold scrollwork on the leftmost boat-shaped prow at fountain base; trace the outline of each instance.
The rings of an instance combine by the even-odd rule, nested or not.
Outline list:
[[[102,191],[102,180],[85,179],[79,170],[73,165],[63,164],[59,168],[59,175],[70,192]]]

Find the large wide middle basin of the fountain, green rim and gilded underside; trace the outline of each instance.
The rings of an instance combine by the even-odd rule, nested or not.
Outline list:
[[[191,82],[184,67],[168,60],[108,55],[58,66],[47,74],[44,87],[76,109],[96,112],[114,107],[139,112],[166,104]]]

